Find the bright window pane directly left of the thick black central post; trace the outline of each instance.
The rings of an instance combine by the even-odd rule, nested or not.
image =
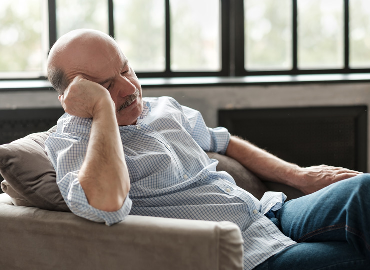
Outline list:
[[[219,5],[219,0],[170,0],[171,70],[221,69]]]

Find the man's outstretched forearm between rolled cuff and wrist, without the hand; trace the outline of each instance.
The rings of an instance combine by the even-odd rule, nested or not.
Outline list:
[[[299,168],[235,136],[231,136],[226,155],[263,179],[290,185],[294,171]]]

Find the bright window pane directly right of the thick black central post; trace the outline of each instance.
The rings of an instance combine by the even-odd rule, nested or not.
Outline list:
[[[292,68],[291,0],[244,0],[245,69]]]

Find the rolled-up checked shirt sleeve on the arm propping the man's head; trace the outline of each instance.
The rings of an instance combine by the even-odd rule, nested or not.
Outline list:
[[[76,215],[95,222],[112,225],[122,221],[130,212],[132,201],[127,197],[122,207],[107,212],[92,207],[78,180],[78,172],[87,151],[91,119],[64,115],[59,119],[57,130],[50,134],[45,149],[56,171],[56,182],[69,207]]]

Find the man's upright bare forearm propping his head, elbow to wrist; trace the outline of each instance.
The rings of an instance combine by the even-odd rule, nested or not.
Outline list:
[[[123,205],[130,181],[114,107],[94,115],[78,179],[91,206],[116,211]]]

